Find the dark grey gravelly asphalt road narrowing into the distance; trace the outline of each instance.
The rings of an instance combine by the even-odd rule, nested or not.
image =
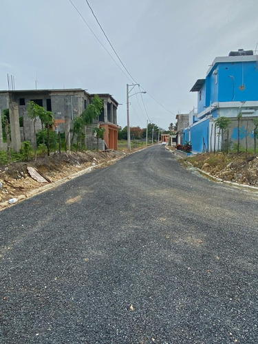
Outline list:
[[[258,195],[155,146],[0,213],[0,343],[258,343]]]

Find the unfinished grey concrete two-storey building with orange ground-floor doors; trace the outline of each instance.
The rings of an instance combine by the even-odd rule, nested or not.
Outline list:
[[[118,125],[117,109],[118,102],[110,94],[98,94],[103,100],[103,113],[94,120],[92,125],[87,127],[87,144],[89,147],[96,145],[96,139],[92,130],[94,127],[105,127],[103,149],[117,149]],[[54,114],[54,130],[65,132],[65,118],[69,122],[87,108],[91,103],[94,94],[89,94],[84,89],[30,89],[19,91],[0,91],[0,110],[10,107],[14,104],[18,109],[19,117],[23,118],[23,129],[21,129],[21,141],[33,138],[33,124],[28,117],[28,103],[33,100],[34,103],[44,107],[47,111]],[[36,122],[36,129],[41,129],[39,120]]]

